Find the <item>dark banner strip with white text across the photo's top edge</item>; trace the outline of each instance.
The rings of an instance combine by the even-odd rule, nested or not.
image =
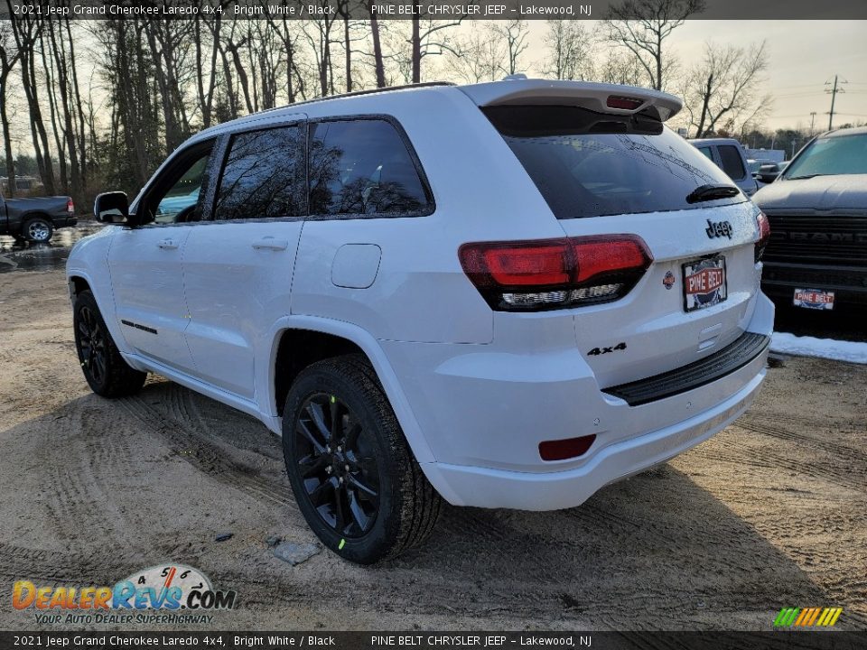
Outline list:
[[[671,20],[867,20],[864,0],[4,0],[0,20],[639,20],[660,6]]]

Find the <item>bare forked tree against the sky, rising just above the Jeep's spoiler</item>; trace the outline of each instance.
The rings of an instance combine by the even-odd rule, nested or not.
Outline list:
[[[703,10],[704,0],[622,0],[609,10],[609,38],[632,52],[650,86],[662,90],[674,63],[667,55],[667,38]]]

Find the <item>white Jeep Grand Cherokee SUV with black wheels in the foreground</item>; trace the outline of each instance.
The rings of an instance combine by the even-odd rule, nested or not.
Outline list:
[[[765,375],[766,222],[663,126],[680,107],[508,80],[203,131],[128,209],[101,195],[126,224],[70,255],[89,385],[155,372],[252,413],[356,562],[422,540],[441,497],[578,506],[720,431]]]

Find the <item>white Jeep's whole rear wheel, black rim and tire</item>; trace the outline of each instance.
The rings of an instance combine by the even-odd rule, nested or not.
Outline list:
[[[326,359],[298,375],[286,397],[283,450],[307,524],[340,557],[372,564],[433,531],[442,499],[365,357]]]

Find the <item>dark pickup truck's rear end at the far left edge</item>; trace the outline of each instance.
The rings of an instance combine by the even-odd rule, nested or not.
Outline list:
[[[75,226],[78,222],[70,197],[0,197],[0,235],[42,243],[51,239],[57,228]]]

